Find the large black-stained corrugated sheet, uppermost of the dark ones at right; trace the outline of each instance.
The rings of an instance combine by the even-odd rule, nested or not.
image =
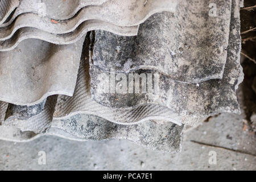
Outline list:
[[[96,31],[93,63],[117,73],[151,69],[181,82],[222,78],[227,57],[230,1],[179,1],[175,13],[152,15],[139,26],[138,36]]]

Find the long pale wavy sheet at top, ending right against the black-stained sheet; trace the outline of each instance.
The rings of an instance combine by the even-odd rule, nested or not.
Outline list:
[[[0,40],[11,38],[22,27],[34,27],[53,34],[65,34],[74,31],[82,22],[93,19],[116,26],[138,26],[152,14],[162,11],[174,12],[175,9],[176,1],[174,0],[147,1],[145,5],[144,0],[109,0],[101,6],[85,7],[68,20],[55,21],[34,13],[25,13],[19,15],[9,26],[0,28]]]

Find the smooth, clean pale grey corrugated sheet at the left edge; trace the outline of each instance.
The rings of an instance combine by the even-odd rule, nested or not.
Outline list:
[[[12,51],[0,52],[0,100],[35,105],[53,94],[72,96],[83,42],[81,38],[57,46],[27,39]]]

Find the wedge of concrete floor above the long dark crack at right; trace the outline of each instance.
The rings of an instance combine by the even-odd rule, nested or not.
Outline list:
[[[229,148],[256,156],[255,133],[243,129],[243,115],[220,114],[186,133],[187,138],[208,146]],[[210,129],[210,130],[209,130]]]

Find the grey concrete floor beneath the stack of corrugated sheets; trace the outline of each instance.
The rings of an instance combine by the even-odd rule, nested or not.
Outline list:
[[[0,141],[2,170],[256,170],[255,134],[242,115],[221,114],[185,134],[180,154],[162,154],[126,140],[76,142],[41,137],[28,143]],[[39,151],[46,165],[39,165]],[[209,164],[215,151],[217,164]]]

